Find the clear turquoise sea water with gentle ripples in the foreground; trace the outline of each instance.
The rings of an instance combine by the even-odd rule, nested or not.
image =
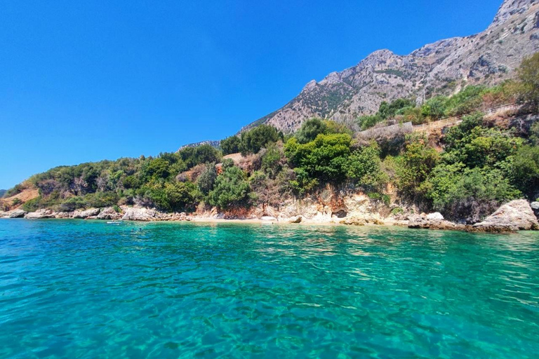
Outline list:
[[[0,358],[538,358],[539,235],[0,220]]]

